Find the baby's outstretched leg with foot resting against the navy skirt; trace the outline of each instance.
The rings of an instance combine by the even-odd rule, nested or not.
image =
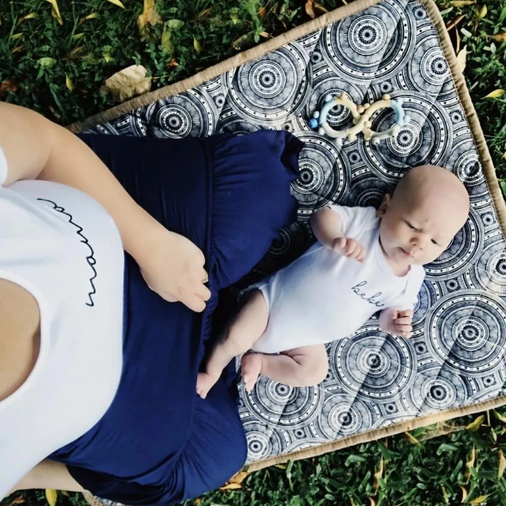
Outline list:
[[[219,337],[205,372],[199,372],[197,376],[197,393],[203,399],[218,381],[226,365],[236,355],[249,350],[264,333],[268,320],[269,313],[262,292],[252,291],[246,304]]]

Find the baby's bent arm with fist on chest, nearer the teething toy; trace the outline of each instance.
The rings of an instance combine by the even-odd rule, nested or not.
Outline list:
[[[309,221],[314,236],[325,246],[339,255],[354,258],[362,262],[365,250],[362,245],[351,237],[342,234],[341,219],[330,207],[319,209],[311,215]]]

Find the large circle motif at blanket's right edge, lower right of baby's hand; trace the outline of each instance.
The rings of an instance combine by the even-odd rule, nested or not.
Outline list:
[[[485,292],[447,295],[431,308],[425,335],[435,360],[455,373],[493,374],[506,358],[506,304]]]

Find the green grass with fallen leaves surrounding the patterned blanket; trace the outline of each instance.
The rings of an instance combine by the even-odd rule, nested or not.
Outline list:
[[[124,4],[123,10],[107,0],[58,0],[63,20],[59,25],[46,0],[0,0],[0,81],[10,83],[0,90],[3,100],[68,124],[115,104],[100,87],[118,70],[142,64],[153,78],[153,88],[165,86],[265,40],[264,33],[276,36],[309,19],[303,0],[161,0],[158,10],[164,22],[184,22],[172,22],[170,41],[166,28],[162,44],[164,24],[151,27],[141,38],[136,21],[142,1],[124,0]],[[342,1],[320,4],[333,9]],[[506,179],[506,95],[484,98],[494,89],[506,89],[506,43],[490,39],[506,31],[506,0],[486,4],[487,13],[476,24],[483,2],[456,7],[449,0],[438,0],[446,21],[465,15],[458,25],[461,46],[467,45],[470,51],[465,76],[498,177]],[[81,22],[91,13],[98,17],[93,14]],[[30,16],[22,20],[26,15]],[[455,30],[451,35],[455,39]],[[41,58],[52,59],[41,62]],[[177,67],[167,65],[172,58]],[[462,427],[475,418],[463,417],[452,425]],[[440,429],[413,434],[423,439]],[[460,430],[420,445],[398,435],[251,473],[241,489],[207,494],[200,504],[370,506],[368,497],[373,497],[376,506],[438,506],[460,503],[463,486],[469,494],[467,501],[491,494],[487,504],[506,505],[506,481],[498,478],[498,452],[506,452],[505,432],[506,423],[491,414],[490,424],[485,416],[485,423],[475,432]],[[473,445],[476,459],[466,477],[465,463]],[[375,490],[374,473],[382,457],[383,474]],[[1,463],[0,468],[3,465],[9,464]],[[19,495],[28,505],[46,503],[43,492]],[[59,506],[71,503],[82,504],[83,499],[79,494],[59,494]]]

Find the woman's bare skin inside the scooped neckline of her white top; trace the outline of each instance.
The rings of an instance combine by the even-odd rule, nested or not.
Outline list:
[[[0,279],[0,401],[14,393],[34,368],[39,328],[34,297],[18,284]]]

